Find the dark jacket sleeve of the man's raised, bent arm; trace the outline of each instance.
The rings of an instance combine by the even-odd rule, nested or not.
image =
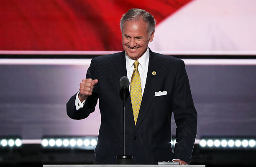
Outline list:
[[[92,78],[92,80],[98,79],[97,76],[97,63],[92,59],[90,67],[87,70],[86,78]],[[100,80],[99,80],[100,82]],[[99,82],[94,86],[92,90],[92,95],[90,95],[85,101],[84,107],[76,110],[75,99],[76,94],[73,95],[67,102],[67,115],[74,120],[81,120],[90,115],[90,113],[95,111],[95,106],[99,97]]]

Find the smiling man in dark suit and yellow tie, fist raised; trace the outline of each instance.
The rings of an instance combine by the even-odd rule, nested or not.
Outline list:
[[[122,154],[123,103],[119,80],[131,82],[125,110],[126,154],[134,164],[159,161],[190,162],[196,132],[197,112],[184,62],[152,52],[154,17],[140,9],[129,10],[120,21],[123,52],[95,57],[80,83],[79,92],[67,103],[67,114],[80,120],[94,112],[99,99],[101,125],[95,148],[95,164],[116,164]],[[176,141],[171,140],[174,113]]]

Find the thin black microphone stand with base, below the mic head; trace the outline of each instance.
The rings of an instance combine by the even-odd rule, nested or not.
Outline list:
[[[118,165],[129,165],[132,164],[133,156],[125,155],[125,93],[127,87],[122,87],[123,90],[123,155],[117,155],[117,164]]]

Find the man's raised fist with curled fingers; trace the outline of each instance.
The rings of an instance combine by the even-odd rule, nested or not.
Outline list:
[[[87,99],[88,96],[92,95],[92,90],[95,84],[97,84],[99,80],[92,80],[91,78],[89,79],[84,79],[80,83],[80,92],[78,95],[78,98],[80,102],[83,102],[85,99]]]

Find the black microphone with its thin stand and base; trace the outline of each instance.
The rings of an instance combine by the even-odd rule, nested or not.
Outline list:
[[[123,154],[117,155],[115,158],[117,160],[118,165],[132,164],[133,156],[125,155],[125,100],[129,96],[129,89],[127,87],[130,85],[130,81],[128,77],[120,78],[120,86],[122,89],[119,92],[121,99],[123,100]]]

